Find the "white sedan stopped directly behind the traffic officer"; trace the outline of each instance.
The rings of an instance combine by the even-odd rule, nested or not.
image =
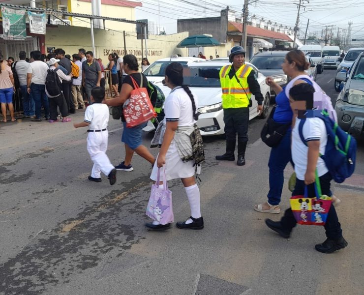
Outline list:
[[[221,99],[221,84],[218,78],[205,78],[201,74],[201,70],[216,69],[219,71],[222,66],[230,64],[228,61],[204,61],[194,62],[188,66],[188,76],[183,77],[183,83],[189,85],[192,93],[195,93],[198,97],[198,112],[200,117],[197,121],[197,126],[200,128],[202,135],[220,135],[224,134],[224,115],[222,110]],[[260,84],[261,91],[264,96],[263,101],[263,114],[259,118],[267,118],[270,105],[270,87],[266,84],[266,77],[253,65],[246,62],[251,66],[256,74],[257,80]],[[156,83],[160,89],[162,89],[164,95],[167,97],[171,89],[163,84]],[[249,120],[258,116],[257,106],[258,103],[251,96],[253,105],[250,108]],[[148,126],[143,129],[144,131],[152,132],[155,130],[155,126],[148,122]]]

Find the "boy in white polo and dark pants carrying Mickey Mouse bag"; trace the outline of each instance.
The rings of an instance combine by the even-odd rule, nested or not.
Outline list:
[[[292,111],[297,114],[298,110],[311,110],[313,108],[313,92],[315,89],[307,84],[301,83],[290,89],[290,104]],[[320,118],[306,118],[303,125],[304,144],[299,135],[300,118],[296,118],[292,129],[292,159],[295,163],[297,181],[292,196],[304,195],[304,188],[307,186],[308,197],[315,198],[315,172],[317,171],[323,195],[332,196],[330,181],[332,176],[328,171],[325,162],[319,154],[325,153],[327,134],[325,123]],[[290,237],[292,229],[297,222],[288,208],[284,216],[278,222],[266,219],[267,226],[280,236]],[[331,205],[325,223],[327,239],[315,245],[315,249],[322,253],[332,253],[336,250],[345,248],[347,241],[342,236],[341,225],[338,221],[336,210]]]

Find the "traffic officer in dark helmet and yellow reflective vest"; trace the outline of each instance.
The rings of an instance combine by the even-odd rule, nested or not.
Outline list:
[[[252,67],[244,64],[245,49],[234,46],[229,55],[230,65],[220,69],[222,108],[226,135],[226,152],[216,160],[235,161],[236,134],[238,133],[238,166],[245,165],[248,142],[249,106],[251,94],[258,102],[258,112],[263,112],[263,94]]]

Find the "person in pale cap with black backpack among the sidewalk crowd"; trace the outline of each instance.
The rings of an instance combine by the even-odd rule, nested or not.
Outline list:
[[[50,59],[47,63],[49,64],[49,70],[47,71],[45,77],[47,77],[48,72],[50,70],[53,70],[57,73],[58,78],[60,79],[60,82],[62,83],[63,81],[71,81],[72,79],[72,73],[70,73],[69,75],[65,75],[59,68],[59,63],[60,59],[55,59],[52,58]],[[46,78],[44,78],[46,79]],[[57,122],[57,107],[60,108],[60,112],[62,115],[62,122],[70,122],[71,118],[67,118],[67,116],[69,115],[68,112],[68,106],[66,103],[66,100],[64,98],[63,92],[61,92],[61,94],[56,95],[56,96],[52,96],[48,93],[47,88],[45,89],[47,96],[48,96],[48,100],[49,100],[49,114],[50,114],[50,118],[49,118],[49,122],[53,123],[53,122]]]

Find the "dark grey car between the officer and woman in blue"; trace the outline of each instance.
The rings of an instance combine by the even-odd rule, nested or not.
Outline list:
[[[264,51],[258,52],[254,55],[249,62],[255,65],[259,71],[266,77],[270,76],[274,82],[278,83],[281,87],[284,87],[288,83],[288,77],[283,72],[282,63],[287,52],[285,51]],[[271,89],[271,95],[276,95]]]

